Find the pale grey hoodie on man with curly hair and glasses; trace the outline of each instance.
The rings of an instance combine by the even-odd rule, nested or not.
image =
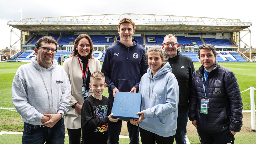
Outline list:
[[[12,103],[24,122],[42,125],[45,113],[67,113],[71,86],[67,74],[56,60],[46,69],[36,58],[18,68],[12,83]]]

